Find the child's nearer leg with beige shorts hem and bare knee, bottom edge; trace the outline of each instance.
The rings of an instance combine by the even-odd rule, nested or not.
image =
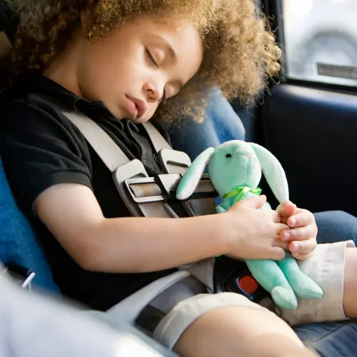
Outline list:
[[[171,288],[164,297],[169,301],[187,296],[183,290],[183,286],[181,292]],[[188,286],[186,292],[190,290]],[[164,306],[159,300],[155,304]],[[184,357],[313,356],[275,313],[237,293],[198,293],[183,298],[167,311],[154,338]]]

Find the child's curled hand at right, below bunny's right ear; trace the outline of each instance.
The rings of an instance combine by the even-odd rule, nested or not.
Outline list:
[[[281,241],[287,241],[294,258],[306,260],[316,248],[317,226],[313,213],[297,208],[290,201],[281,203],[276,211],[281,215],[281,223],[291,229],[281,231]]]

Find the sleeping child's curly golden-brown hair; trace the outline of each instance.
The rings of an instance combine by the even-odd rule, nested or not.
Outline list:
[[[209,89],[218,87],[227,99],[253,103],[280,70],[281,51],[268,21],[254,0],[11,0],[19,16],[14,49],[1,61],[8,87],[27,69],[40,73],[56,59],[88,16],[85,34],[95,41],[140,14],[187,19],[201,34],[203,61],[180,93],[165,101],[156,119],[178,112],[203,119]]]

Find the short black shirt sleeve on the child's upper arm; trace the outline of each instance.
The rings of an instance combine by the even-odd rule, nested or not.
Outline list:
[[[93,191],[86,140],[68,119],[31,101],[14,101],[1,116],[1,159],[24,208],[59,183],[81,183]]]

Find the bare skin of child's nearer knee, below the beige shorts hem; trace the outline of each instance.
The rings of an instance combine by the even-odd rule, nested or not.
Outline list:
[[[270,311],[218,308],[183,332],[174,350],[184,357],[313,357],[293,330]]]

